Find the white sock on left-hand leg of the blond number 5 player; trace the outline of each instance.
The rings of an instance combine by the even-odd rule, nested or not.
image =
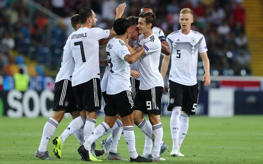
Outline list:
[[[179,147],[178,145],[178,138],[179,138],[179,130],[180,130],[180,114],[182,108],[181,107],[174,107],[172,109],[171,120],[170,120],[170,129],[171,129],[171,136],[173,140],[173,148]]]

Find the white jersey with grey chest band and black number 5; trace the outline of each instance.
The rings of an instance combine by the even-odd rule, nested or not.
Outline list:
[[[186,86],[195,85],[198,52],[207,51],[204,35],[193,30],[184,35],[178,30],[169,34],[166,40],[172,55],[169,80]]]

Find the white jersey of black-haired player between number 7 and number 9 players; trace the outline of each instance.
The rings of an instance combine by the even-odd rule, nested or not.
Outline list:
[[[130,54],[128,47],[122,40],[113,38],[109,40],[106,51],[110,71],[107,94],[131,91],[130,64],[124,59]]]

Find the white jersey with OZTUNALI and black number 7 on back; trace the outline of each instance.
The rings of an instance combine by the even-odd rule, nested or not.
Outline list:
[[[109,30],[84,27],[71,35],[69,44],[75,60],[72,86],[85,83],[92,78],[100,78],[99,40],[108,38],[109,34]]]

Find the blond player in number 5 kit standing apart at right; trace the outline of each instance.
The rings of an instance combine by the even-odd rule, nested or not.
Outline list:
[[[179,23],[181,29],[169,34],[166,40],[171,49],[170,56],[164,56],[161,75],[165,78],[169,61],[169,104],[168,110],[172,111],[170,128],[173,140],[173,150],[170,156],[184,156],[180,146],[188,130],[190,115],[195,114],[198,103],[198,83],[196,81],[196,68],[198,52],[202,58],[205,74],[205,86],[210,84],[209,59],[204,35],[191,30],[193,11],[184,8],[180,11]],[[167,91],[164,87],[164,93]]]

